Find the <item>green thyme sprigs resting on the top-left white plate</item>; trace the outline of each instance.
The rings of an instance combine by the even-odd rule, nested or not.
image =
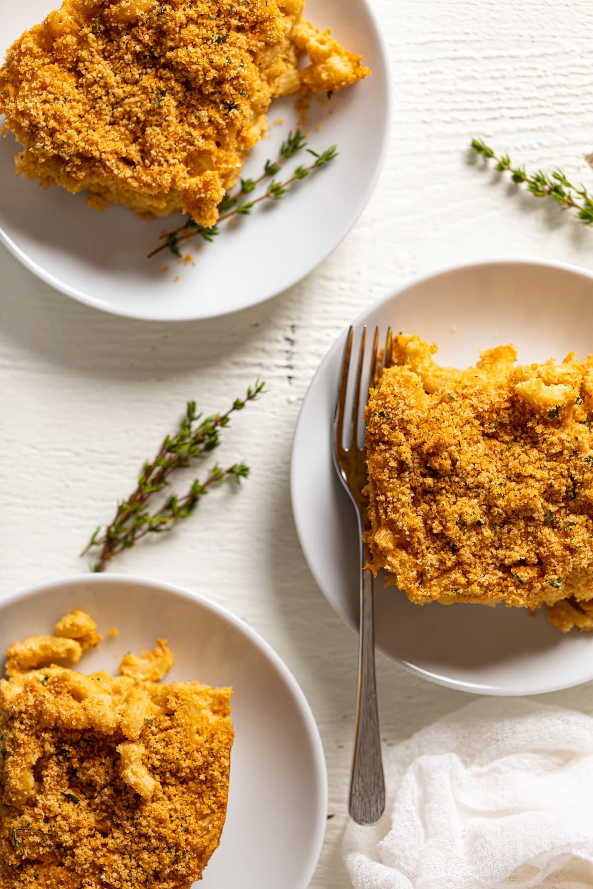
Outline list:
[[[329,164],[338,156],[336,145],[317,153],[317,151],[314,151],[312,148],[307,148],[307,144],[308,143],[305,141],[305,137],[301,130],[296,130],[294,133],[289,132],[286,140],[282,143],[277,160],[266,161],[264,171],[258,179],[242,179],[240,181],[241,188],[237,192],[225,195],[222,198],[218,208],[222,215],[219,216],[216,225],[206,228],[199,225],[190,217],[182,226],[180,226],[180,228],[174,228],[172,231],[165,232],[161,235],[163,243],[148,253],[148,259],[156,256],[156,253],[159,253],[162,250],[169,250],[174,256],[181,258],[180,243],[196,236],[201,236],[204,241],[212,242],[217,235],[220,235],[220,222],[228,221],[236,216],[250,216],[253,207],[256,204],[260,204],[262,201],[281,200],[293,182],[307,179],[311,172],[314,172],[317,168],[324,166],[325,164]],[[283,182],[277,182],[272,179],[272,177],[276,176],[277,173],[281,171],[284,162],[290,160],[303,148],[307,148],[309,154],[315,157],[315,161],[312,164],[309,164],[309,166],[300,164],[292,172],[292,176]],[[272,181],[262,195],[250,201],[243,200],[244,196],[250,194],[263,180],[267,179],[272,179]]]

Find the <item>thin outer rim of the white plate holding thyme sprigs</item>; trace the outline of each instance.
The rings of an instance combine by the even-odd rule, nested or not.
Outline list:
[[[314,266],[309,268],[308,271],[303,274],[296,273],[296,276],[291,276],[287,284],[284,284],[280,290],[276,290],[274,288],[274,292],[262,292],[260,297],[257,300],[246,303],[244,306],[228,308],[220,311],[219,309],[212,307],[212,310],[202,311],[196,315],[195,312],[190,313],[182,313],[180,315],[176,315],[174,317],[158,317],[158,316],[147,316],[146,314],[142,314],[140,312],[126,310],[125,308],[117,308],[106,306],[102,302],[98,302],[92,296],[78,290],[76,287],[71,286],[70,284],[62,281],[60,278],[52,275],[51,272],[47,271],[43,266],[40,266],[36,260],[33,260],[28,256],[28,253],[25,252],[19,244],[17,244],[12,237],[4,230],[4,228],[0,225],[0,243],[4,244],[7,250],[12,253],[12,256],[16,260],[20,262],[20,265],[23,268],[27,268],[33,275],[35,275],[40,280],[44,281],[45,284],[48,284],[53,290],[63,293],[65,296],[70,297],[70,299],[76,300],[85,306],[89,306],[90,308],[94,308],[97,311],[103,312],[107,315],[114,315],[116,317],[130,318],[134,321],[146,321],[153,324],[178,324],[178,323],[187,323],[188,321],[205,321],[209,318],[223,317],[228,315],[233,315],[237,312],[242,312],[245,309],[252,308],[253,306],[259,306],[268,300],[274,299],[274,297],[278,296],[280,293],[289,290],[295,284],[298,284],[303,280],[306,276],[310,275],[311,272],[315,271],[318,266],[320,266],[325,260],[328,259],[329,256],[340,246],[341,242],[344,240],[346,236],[349,235],[352,228],[354,228],[360,220],[363,212],[365,212],[366,205],[371,200],[373,196],[373,192],[377,186],[377,182],[379,181],[379,177],[381,176],[381,172],[383,171],[383,167],[385,166],[385,159],[387,157],[387,152],[389,149],[389,143],[391,140],[391,129],[393,124],[393,106],[394,106],[394,86],[393,86],[393,77],[391,72],[391,62],[389,59],[389,47],[387,45],[387,40],[385,38],[383,28],[381,27],[381,20],[379,18],[378,13],[374,9],[373,3],[371,0],[355,0],[356,3],[362,4],[365,7],[365,10],[371,20],[372,26],[374,28],[375,38],[377,42],[378,55],[381,58],[381,64],[385,71],[385,115],[384,115],[384,124],[381,135],[381,145],[380,150],[377,155],[377,162],[373,169],[373,175],[369,178],[366,184],[366,188],[361,192],[360,199],[357,202],[357,206],[355,211],[352,213],[351,217],[346,217],[346,221],[344,225],[337,229],[336,235],[330,242],[329,249],[325,252],[325,256],[316,262]],[[0,52],[5,52],[0,51]],[[1,56],[0,56],[1,58]],[[270,103],[270,108],[272,103]],[[269,112],[269,108],[268,108]],[[17,143],[20,145],[20,143]],[[259,142],[258,142],[259,144]],[[140,220],[139,220],[140,221]],[[196,306],[198,304],[196,303]]]

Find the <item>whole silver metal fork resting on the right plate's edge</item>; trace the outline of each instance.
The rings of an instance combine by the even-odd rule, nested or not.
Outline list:
[[[379,711],[377,708],[377,685],[374,662],[373,627],[373,573],[365,568],[368,550],[363,541],[363,533],[370,529],[368,517],[368,497],[363,493],[367,483],[366,449],[358,446],[358,425],[362,410],[368,401],[371,385],[381,376],[383,367],[391,362],[391,328],[387,332],[385,348],[378,363],[379,328],[375,328],[371,372],[365,392],[363,387],[363,365],[365,363],[366,326],[360,341],[356,384],[353,396],[352,419],[349,426],[349,446],[344,447],[344,417],[346,395],[352,355],[353,328],[350,327],[344,348],[340,388],[333,420],[333,465],[349,498],[356,507],[358,536],[360,541],[360,637],[358,650],[358,698],[357,725],[354,739],[354,757],[350,778],[349,813],[358,824],[374,824],[385,811],[385,778],[381,761],[381,734],[379,732]],[[361,405],[361,400],[363,404]]]

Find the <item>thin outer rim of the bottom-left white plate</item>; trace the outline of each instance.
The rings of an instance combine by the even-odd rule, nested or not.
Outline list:
[[[226,621],[234,629],[238,630],[245,637],[247,637],[276,669],[278,675],[283,679],[284,685],[287,686],[288,690],[292,694],[292,700],[297,706],[303,724],[305,725],[305,728],[309,735],[311,750],[313,752],[312,765],[315,772],[316,783],[318,784],[320,790],[315,805],[315,817],[317,821],[315,825],[316,840],[315,844],[312,845],[309,849],[309,861],[305,862],[305,864],[303,865],[303,876],[305,878],[300,884],[301,889],[307,889],[311,879],[314,876],[315,870],[317,869],[317,863],[321,856],[321,851],[325,841],[327,812],[329,809],[329,788],[325,750],[321,738],[321,733],[319,731],[319,726],[317,725],[317,720],[315,718],[313,710],[311,709],[311,705],[309,704],[305,693],[301,689],[301,685],[299,685],[299,683],[297,682],[296,677],[293,676],[292,671],[284,663],[283,659],[276,652],[276,650],[272,648],[272,646],[266,641],[266,639],[260,636],[260,633],[258,633],[255,629],[252,629],[252,627],[250,627],[250,625],[246,621],[244,621],[240,617],[237,617],[236,614],[229,611],[229,609],[226,608],[224,605],[220,605],[218,602],[214,602],[212,599],[203,596],[201,593],[194,592],[185,587],[180,587],[178,584],[144,577],[141,574],[124,574],[116,572],[89,574],[76,573],[68,574],[67,576],[60,577],[52,581],[42,581],[41,583],[36,583],[32,586],[27,587],[26,589],[10,593],[6,597],[2,597],[2,599],[0,599],[0,618],[2,618],[2,613],[6,606],[18,604],[25,599],[40,596],[44,593],[51,593],[54,589],[60,589],[60,587],[63,587],[66,584],[76,584],[81,582],[91,583],[97,586],[101,586],[103,584],[108,584],[111,582],[120,583],[128,586],[140,584],[146,587],[150,587],[151,589],[158,590],[159,592],[164,592],[169,596],[183,599],[186,602],[190,602],[194,605],[201,605],[206,611],[215,614],[217,617],[221,618],[223,621]]]

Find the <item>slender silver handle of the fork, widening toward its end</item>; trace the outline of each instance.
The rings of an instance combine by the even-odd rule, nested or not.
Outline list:
[[[361,574],[357,727],[349,813],[358,824],[374,824],[385,811],[385,778],[375,680],[373,574],[368,568]]]

